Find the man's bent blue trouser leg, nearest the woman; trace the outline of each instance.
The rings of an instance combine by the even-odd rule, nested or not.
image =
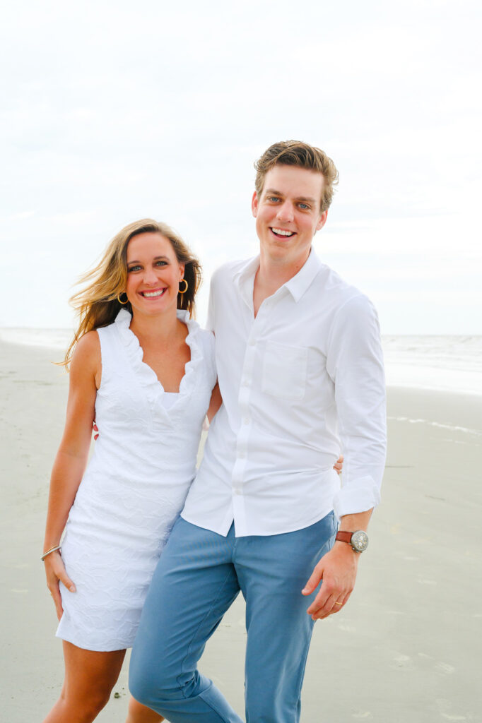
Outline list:
[[[239,592],[227,538],[179,518],[154,573],[130,660],[132,695],[172,723],[242,723],[198,660]]]

